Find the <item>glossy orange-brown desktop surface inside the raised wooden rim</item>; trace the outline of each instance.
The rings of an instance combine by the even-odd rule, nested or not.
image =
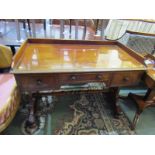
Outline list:
[[[27,43],[16,71],[138,70],[144,66],[117,45]]]

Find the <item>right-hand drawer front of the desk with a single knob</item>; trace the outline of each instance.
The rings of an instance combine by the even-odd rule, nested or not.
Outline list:
[[[110,85],[111,87],[134,85],[140,81],[141,76],[141,72],[117,72],[113,74]]]

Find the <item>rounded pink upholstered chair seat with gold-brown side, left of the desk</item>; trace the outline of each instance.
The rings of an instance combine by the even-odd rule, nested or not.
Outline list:
[[[0,132],[14,118],[20,103],[20,95],[13,74],[0,74]]]

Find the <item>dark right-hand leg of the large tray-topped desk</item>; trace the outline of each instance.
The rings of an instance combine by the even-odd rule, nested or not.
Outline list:
[[[118,116],[121,114],[120,107],[118,105],[118,99],[119,99],[119,88],[118,87],[112,87],[109,90],[109,97],[112,103],[112,109],[114,111],[114,117],[118,118]]]

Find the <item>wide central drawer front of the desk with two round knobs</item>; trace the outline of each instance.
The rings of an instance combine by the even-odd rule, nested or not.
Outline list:
[[[87,83],[87,82],[107,82],[109,73],[78,73],[78,74],[60,74],[59,81],[61,84]]]

